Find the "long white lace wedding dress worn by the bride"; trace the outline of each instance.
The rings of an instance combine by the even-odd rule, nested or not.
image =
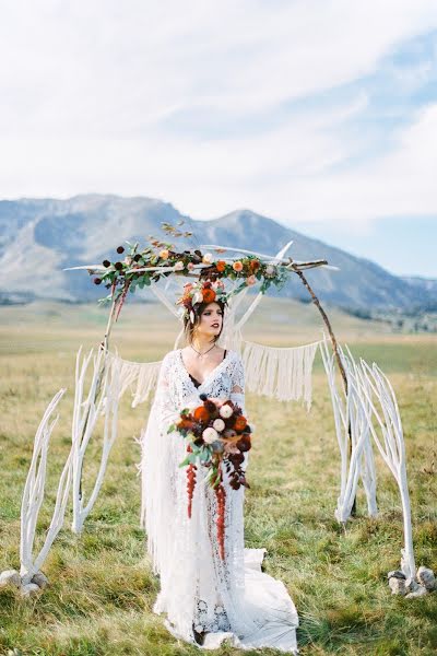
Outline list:
[[[200,405],[199,395],[231,398],[244,409],[244,370],[235,351],[196,387],[181,351],[167,353],[147,425],[142,434],[142,526],[161,591],[154,612],[166,613],[173,635],[198,644],[194,630],[205,632],[203,648],[228,640],[240,648],[273,647],[297,654],[298,618],[280,581],[261,572],[265,549],[244,548],[244,488],[233,490],[223,472],[225,558],[216,540],[216,500],[204,484],[208,470],[198,466],[191,518],[187,512],[186,443],[167,434],[175,413]],[[246,462],[247,465],[247,455]]]

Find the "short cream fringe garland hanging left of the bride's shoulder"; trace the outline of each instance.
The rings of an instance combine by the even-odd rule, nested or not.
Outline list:
[[[132,408],[147,400],[150,394],[156,389],[157,377],[161,368],[160,362],[129,362],[118,354],[108,353],[109,366],[119,370],[121,398],[128,387],[132,391]]]

